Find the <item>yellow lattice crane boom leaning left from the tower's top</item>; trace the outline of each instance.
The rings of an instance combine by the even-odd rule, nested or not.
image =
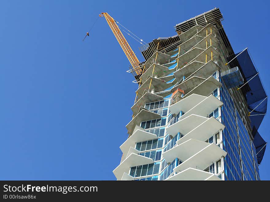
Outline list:
[[[133,69],[135,70],[137,75],[140,75],[142,70],[140,68],[140,62],[136,57],[135,53],[129,46],[129,43],[125,39],[124,35],[120,31],[119,27],[115,23],[114,18],[112,18],[108,13],[101,13],[99,17],[105,17],[108,25],[110,26],[111,30],[114,33],[115,38],[117,39],[118,43],[120,44],[121,48],[123,49],[126,57],[128,58],[130,64],[132,65]]]

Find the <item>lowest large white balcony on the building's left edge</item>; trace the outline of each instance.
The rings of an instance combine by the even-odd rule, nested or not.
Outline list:
[[[124,172],[129,173],[130,167],[151,163],[153,159],[132,153],[113,170],[113,173],[117,180],[121,180]]]

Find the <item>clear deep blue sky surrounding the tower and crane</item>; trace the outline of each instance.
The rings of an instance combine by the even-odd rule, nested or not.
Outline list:
[[[137,85],[105,18],[82,42],[99,13],[150,42],[219,7],[234,51],[249,47],[270,95],[265,3],[1,1],[0,180],[115,180]],[[126,38],[142,60],[138,42]],[[259,129],[267,142],[269,120],[268,114]],[[259,166],[262,180],[270,180],[269,162],[268,146]]]

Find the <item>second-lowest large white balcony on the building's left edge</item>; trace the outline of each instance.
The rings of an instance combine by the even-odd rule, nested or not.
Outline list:
[[[135,129],[136,130],[136,129]],[[152,133],[145,132],[143,130],[137,129],[121,146],[120,149],[123,152],[123,155],[128,156],[130,147],[135,147],[136,142],[143,142],[147,140],[156,139],[157,136]],[[124,157],[123,156],[123,157]]]

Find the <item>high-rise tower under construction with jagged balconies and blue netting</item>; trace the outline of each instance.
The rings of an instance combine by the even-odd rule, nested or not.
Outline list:
[[[215,8],[141,50],[145,62],[129,70],[139,87],[117,180],[260,180],[267,95],[222,20]]]

